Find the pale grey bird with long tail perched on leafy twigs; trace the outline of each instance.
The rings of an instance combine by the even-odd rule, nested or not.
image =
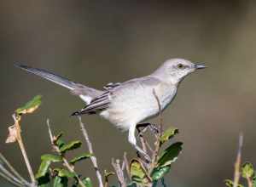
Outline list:
[[[99,114],[116,127],[128,130],[129,142],[143,154],[137,145],[136,126],[148,118],[159,113],[159,105],[153,91],[160,100],[160,109],[163,111],[177,94],[178,84],[184,77],[205,65],[198,65],[186,59],[168,59],[156,71],[146,77],[131,79],[127,82],[108,83],[105,90],[98,90],[71,82],[65,77],[38,68],[26,65],[17,65],[22,70],[29,71],[62,87],[68,88],[75,95],[84,100],[86,106],[73,116],[83,114]]]

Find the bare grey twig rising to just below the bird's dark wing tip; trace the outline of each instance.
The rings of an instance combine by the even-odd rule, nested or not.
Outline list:
[[[96,171],[96,177],[98,179],[99,187],[103,187],[102,174],[100,173],[100,170],[99,170],[99,167],[98,167],[98,164],[97,164],[97,160],[96,160],[96,156],[94,156],[94,151],[92,149],[92,144],[90,142],[89,135],[87,133],[86,128],[84,127],[84,123],[82,122],[81,116],[78,116],[78,118],[79,118],[79,124],[80,124],[81,130],[82,130],[82,133],[84,135],[84,139],[85,139],[86,144],[88,146],[88,150],[89,150],[90,154],[92,155],[92,156],[90,156],[90,161],[92,162],[92,165],[93,165],[93,167]]]

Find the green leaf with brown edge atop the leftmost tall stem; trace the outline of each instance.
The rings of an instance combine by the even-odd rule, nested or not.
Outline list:
[[[19,115],[32,113],[38,106],[41,105],[41,95],[35,96],[32,100],[28,101],[24,106],[18,108],[15,112]]]

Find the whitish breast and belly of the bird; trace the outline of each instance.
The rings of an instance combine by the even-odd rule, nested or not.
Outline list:
[[[160,100],[161,110],[166,109],[176,94],[176,88],[167,85],[154,88],[155,94]],[[154,96],[153,88],[142,90],[129,90],[124,94],[113,98],[106,111],[101,116],[108,119],[119,128],[128,129],[133,123],[143,122],[159,113],[157,99]]]

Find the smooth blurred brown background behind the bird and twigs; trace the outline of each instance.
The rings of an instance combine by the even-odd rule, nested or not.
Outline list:
[[[15,63],[102,88],[148,75],[166,59],[181,57],[209,67],[183,81],[164,113],[165,126],[178,127],[177,139],[184,143],[166,181],[177,187],[224,186],[233,176],[240,132],[243,161],[256,161],[255,8],[246,0],[1,1],[1,152],[28,177],[17,144],[4,141],[14,110],[36,94],[44,96],[43,105],[22,121],[34,171],[40,155],[51,151],[47,118],[55,133],[83,139],[77,119],[69,115],[84,103]],[[127,133],[97,116],[83,120],[102,169],[112,170],[111,158],[121,158],[124,151],[134,156]],[[96,185],[89,161],[77,169]]]

